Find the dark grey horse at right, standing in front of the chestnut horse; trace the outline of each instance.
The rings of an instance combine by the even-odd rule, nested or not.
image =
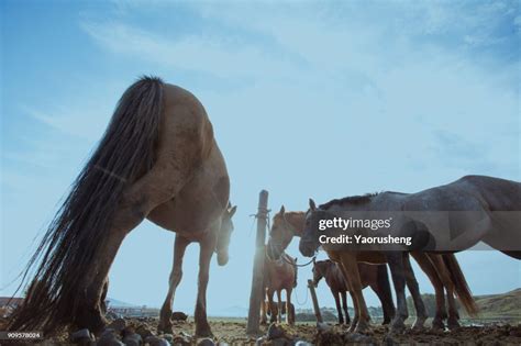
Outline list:
[[[299,248],[302,255],[311,257],[322,245],[330,258],[342,264],[356,299],[355,311],[359,312],[357,331],[366,330],[369,321],[357,263],[388,263],[398,301],[391,328],[401,331],[408,317],[404,283],[411,275],[406,260],[409,250],[353,250],[347,244],[320,244],[320,221],[331,220],[332,213],[342,213],[344,217],[353,213],[359,216],[362,213],[362,219],[375,220],[375,212],[386,215],[396,212],[397,220],[386,231],[387,235],[398,237],[407,231],[413,238],[418,236],[426,239],[423,243],[426,250],[454,253],[483,241],[511,257],[521,258],[520,211],[521,183],[483,176],[467,176],[446,186],[411,194],[383,192],[350,197],[319,208],[310,200]],[[443,213],[443,217],[439,213]],[[414,295],[414,292],[411,293]]]

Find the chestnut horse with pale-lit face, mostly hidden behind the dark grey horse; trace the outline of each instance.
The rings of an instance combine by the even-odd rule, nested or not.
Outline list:
[[[301,236],[306,223],[306,213],[304,212],[286,212],[284,205],[280,208],[280,211],[273,217],[271,230],[269,233],[268,246],[271,248],[271,253],[276,257],[277,254],[288,247],[293,236]],[[340,263],[340,258],[335,257],[333,254],[330,254],[330,258],[336,263]],[[420,265],[420,268],[425,272],[431,283],[434,287],[434,292],[436,297],[436,312],[432,321],[433,328],[444,328],[444,320],[447,319],[447,312],[445,308],[445,295],[444,291],[446,290],[446,300],[448,301],[448,326],[454,328],[458,324],[458,313],[457,305],[454,300],[454,292],[457,293],[461,299],[465,310],[470,314],[475,314],[477,308],[475,305],[474,299],[472,297],[470,290],[468,289],[465,277],[459,269],[459,265],[454,257],[454,255],[435,255],[435,254],[424,254],[424,253],[412,253],[411,254],[417,263]],[[336,260],[335,260],[336,259]],[[413,275],[410,275],[412,268],[410,267],[409,257],[404,256],[402,261],[407,265],[410,270],[407,275],[407,284],[411,290],[411,294],[414,300],[414,305],[417,308],[417,321],[415,327],[420,327],[423,322],[426,320],[426,311],[423,306],[423,302],[420,297],[418,282]],[[384,264],[385,260],[374,261],[375,264]],[[341,269],[342,266],[340,267]],[[358,271],[359,272],[359,271]],[[345,272],[344,272],[345,275]],[[386,271],[387,275],[387,271]],[[388,281],[388,279],[387,279]],[[350,290],[351,295],[353,292]],[[390,294],[390,293],[389,293]],[[355,298],[353,297],[353,302]],[[392,305],[392,302],[386,302],[386,304]],[[384,306],[384,305],[383,305]],[[352,327],[356,326],[358,321],[358,314],[355,305],[355,317],[352,323]]]

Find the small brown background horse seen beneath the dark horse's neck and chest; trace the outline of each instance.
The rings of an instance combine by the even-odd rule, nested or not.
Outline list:
[[[358,264],[358,270],[361,274],[361,281],[363,288],[370,287],[373,291],[378,295],[384,311],[384,322],[381,324],[388,324],[392,316],[395,316],[395,304],[392,304],[392,295],[390,292],[389,277],[387,275],[387,267],[385,265],[367,265]],[[339,265],[332,260],[313,260],[313,283],[317,287],[320,280],[324,278],[325,283],[330,287],[331,293],[333,294],[336,311],[339,313],[339,324],[344,323],[342,315],[342,308],[345,314],[345,323],[350,324],[350,313],[347,311],[347,292],[350,291],[347,282],[344,279],[344,275],[340,269]],[[384,280],[384,282],[381,282]]]

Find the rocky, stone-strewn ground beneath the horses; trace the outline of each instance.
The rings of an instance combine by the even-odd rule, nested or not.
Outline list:
[[[214,337],[195,338],[195,324],[191,319],[175,323],[175,335],[158,334],[156,319],[117,320],[108,333],[97,338],[98,346],[167,346],[167,345],[521,345],[521,325],[495,324],[486,326],[465,326],[451,332],[407,331],[400,335],[388,336],[385,326],[374,325],[366,335],[348,334],[346,326],[328,325],[318,332],[313,323],[297,323],[295,326],[262,326],[257,337],[245,334],[246,321],[239,319],[212,319],[210,321]],[[124,343],[124,344],[123,344]],[[86,331],[75,335],[63,335],[45,341],[41,345],[96,345]]]

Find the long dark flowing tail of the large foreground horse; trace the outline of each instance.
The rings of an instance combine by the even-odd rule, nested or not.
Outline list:
[[[123,93],[97,149],[22,274],[16,292],[26,286],[25,278],[33,277],[9,330],[54,333],[75,322],[85,297],[84,274],[110,234],[121,197],[155,161],[162,112],[159,78],[143,77]]]

